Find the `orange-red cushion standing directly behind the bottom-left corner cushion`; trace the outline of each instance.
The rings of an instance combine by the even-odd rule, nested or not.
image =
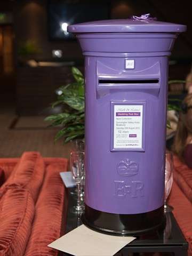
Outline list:
[[[36,201],[43,182],[44,170],[44,161],[38,152],[23,153],[1,190],[9,187],[26,188]]]

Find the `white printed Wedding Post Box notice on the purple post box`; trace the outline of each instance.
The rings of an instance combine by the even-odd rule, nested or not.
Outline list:
[[[114,149],[142,148],[143,105],[114,106]]]

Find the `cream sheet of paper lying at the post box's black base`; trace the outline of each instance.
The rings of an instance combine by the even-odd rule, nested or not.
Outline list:
[[[48,246],[75,256],[112,256],[134,239],[101,234],[81,225]]]

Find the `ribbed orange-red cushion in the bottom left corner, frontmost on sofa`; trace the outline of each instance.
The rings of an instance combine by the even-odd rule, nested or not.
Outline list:
[[[34,217],[34,201],[26,189],[10,188],[0,200],[0,255],[23,255]]]

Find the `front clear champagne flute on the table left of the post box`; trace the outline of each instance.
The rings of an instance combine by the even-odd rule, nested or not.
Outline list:
[[[84,152],[70,153],[70,169],[77,184],[77,205],[74,206],[73,212],[82,213],[84,205],[81,200],[81,182],[84,178]]]

